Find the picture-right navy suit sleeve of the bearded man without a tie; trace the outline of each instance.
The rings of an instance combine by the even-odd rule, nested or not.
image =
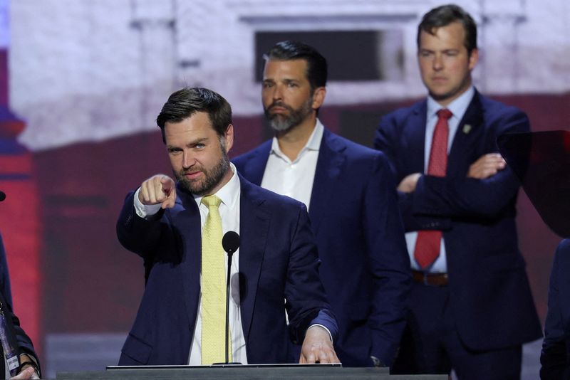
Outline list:
[[[373,278],[371,355],[390,365],[405,325],[405,300],[410,288],[410,260],[396,201],[395,180],[383,154],[375,157],[364,196],[368,265]]]

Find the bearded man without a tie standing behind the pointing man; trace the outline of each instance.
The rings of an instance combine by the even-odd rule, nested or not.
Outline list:
[[[308,207],[343,366],[389,366],[404,327],[410,263],[388,162],[318,120],[327,77],[318,51],[283,41],[265,58],[261,95],[275,137],[233,162],[249,181]]]

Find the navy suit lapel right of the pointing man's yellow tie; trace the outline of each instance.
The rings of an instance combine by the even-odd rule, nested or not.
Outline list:
[[[242,328],[246,344],[255,308],[261,263],[263,263],[270,215],[264,210],[264,199],[257,189],[239,176],[242,194],[239,203],[239,297],[242,308]]]

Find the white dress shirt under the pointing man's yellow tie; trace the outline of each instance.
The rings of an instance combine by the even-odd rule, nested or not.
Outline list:
[[[232,179],[225,184],[222,189],[217,191],[216,195],[222,200],[222,204],[219,205],[219,215],[222,218],[222,233],[227,233],[228,231],[235,231],[239,233],[239,196],[241,194],[241,187],[239,184],[239,178],[236,175],[236,168],[234,164],[230,163],[232,167],[233,175]],[[135,211],[138,216],[145,218],[147,216],[152,216],[160,210],[160,204],[145,206],[138,200],[138,191],[135,194]],[[202,196],[194,196],[196,204],[200,211],[200,223],[202,228],[204,228],[204,222],[206,221],[206,216],[208,214],[208,208],[201,203]],[[227,268],[227,254],[222,252],[220,254],[224,255],[226,268]],[[242,315],[240,312],[240,302],[239,302],[239,249],[234,253],[232,258],[232,273],[230,280],[230,300],[229,300],[229,329],[232,334],[232,360],[242,364],[247,364],[247,354],[245,347],[244,331],[242,328]],[[202,281],[202,276],[200,275],[200,281]],[[224,326],[220,326],[220,329],[224,329]],[[192,366],[199,366],[202,364],[202,351],[200,348],[202,337],[202,295],[199,298],[198,305],[198,315],[196,319],[196,325],[194,329],[194,337],[192,338],[192,345],[190,348],[190,357],[188,359],[188,364]]]

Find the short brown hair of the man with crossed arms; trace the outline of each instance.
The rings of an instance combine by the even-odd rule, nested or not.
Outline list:
[[[420,34],[422,31],[433,36],[435,29],[448,26],[454,22],[462,24],[465,31],[463,45],[467,49],[467,54],[471,56],[473,49],[477,48],[477,24],[473,21],[470,14],[455,4],[438,6],[423,16],[422,22],[418,26],[418,49],[420,48]]]

